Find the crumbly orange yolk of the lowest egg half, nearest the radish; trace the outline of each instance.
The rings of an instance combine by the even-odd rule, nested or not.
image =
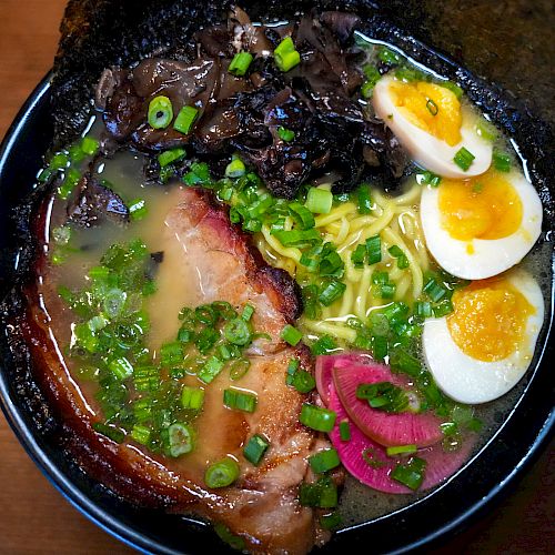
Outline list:
[[[455,344],[484,362],[502,361],[525,340],[526,322],[535,309],[504,278],[472,282],[453,295],[447,327]]]

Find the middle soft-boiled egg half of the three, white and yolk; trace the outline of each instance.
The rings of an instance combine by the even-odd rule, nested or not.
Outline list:
[[[542,231],[542,201],[518,172],[443,179],[422,192],[426,245],[447,272],[465,280],[497,275],[518,263]]]

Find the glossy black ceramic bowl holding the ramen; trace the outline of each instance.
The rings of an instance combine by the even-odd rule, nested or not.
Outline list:
[[[450,60],[438,58],[432,50],[391,29],[383,33],[381,38],[410,49],[417,59],[444,74],[456,75],[471,98],[494,115],[496,123],[504,125],[517,143],[526,142],[528,155],[542,152],[542,144],[529,143],[526,131],[529,121],[521,121],[518,109],[505,102],[500,91],[488,89]],[[18,114],[0,150],[0,300],[18,278],[23,252],[24,238],[10,223],[10,215],[24,205],[42,157],[52,143],[50,100],[51,84],[47,77]],[[544,171],[545,167],[542,170],[541,165],[532,164],[533,178],[547,186],[548,175]],[[543,240],[549,240],[546,233]],[[552,292],[553,287],[546,294]],[[538,343],[539,353],[535,366],[527,373],[522,396],[495,435],[453,478],[403,509],[337,533],[322,551],[356,552],[365,545],[372,546],[375,553],[401,553],[430,546],[472,522],[498,500],[534,461],[554,427],[552,324],[553,297]],[[44,407],[40,405],[32,369],[14,363],[6,344],[6,330],[0,330],[0,349],[2,410],[29,455],[79,511],[107,532],[144,552],[211,553],[214,549],[222,553],[225,549],[202,523],[135,507],[83,474],[64,455],[56,434],[50,433],[48,417],[43,418],[44,425],[38,424],[37,413],[44,412]]]

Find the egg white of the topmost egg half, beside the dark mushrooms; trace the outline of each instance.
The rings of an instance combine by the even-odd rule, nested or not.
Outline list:
[[[418,165],[437,175],[452,179],[480,175],[490,168],[492,143],[476,133],[475,118],[470,110],[463,107],[461,142],[450,147],[445,141],[414,125],[403,115],[390,95],[389,89],[393,80],[392,77],[384,77],[377,81],[372,97],[374,110]],[[467,171],[462,170],[453,161],[463,147],[475,157]]]

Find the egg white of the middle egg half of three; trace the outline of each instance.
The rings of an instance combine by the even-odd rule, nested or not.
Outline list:
[[[442,226],[440,186],[422,192],[421,218],[426,246],[437,263],[452,275],[464,280],[492,278],[517,264],[534,246],[542,232],[542,201],[534,186],[516,171],[506,180],[518,194],[523,214],[521,226],[502,239],[454,239]],[[472,251],[468,252],[468,244]]]

